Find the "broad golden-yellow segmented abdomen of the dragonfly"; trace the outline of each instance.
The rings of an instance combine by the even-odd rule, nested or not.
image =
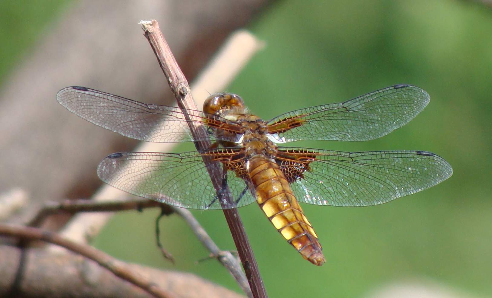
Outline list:
[[[323,265],[318,236],[292,193],[280,167],[266,157],[249,160],[249,176],[256,190],[256,201],[280,234],[314,265]]]

